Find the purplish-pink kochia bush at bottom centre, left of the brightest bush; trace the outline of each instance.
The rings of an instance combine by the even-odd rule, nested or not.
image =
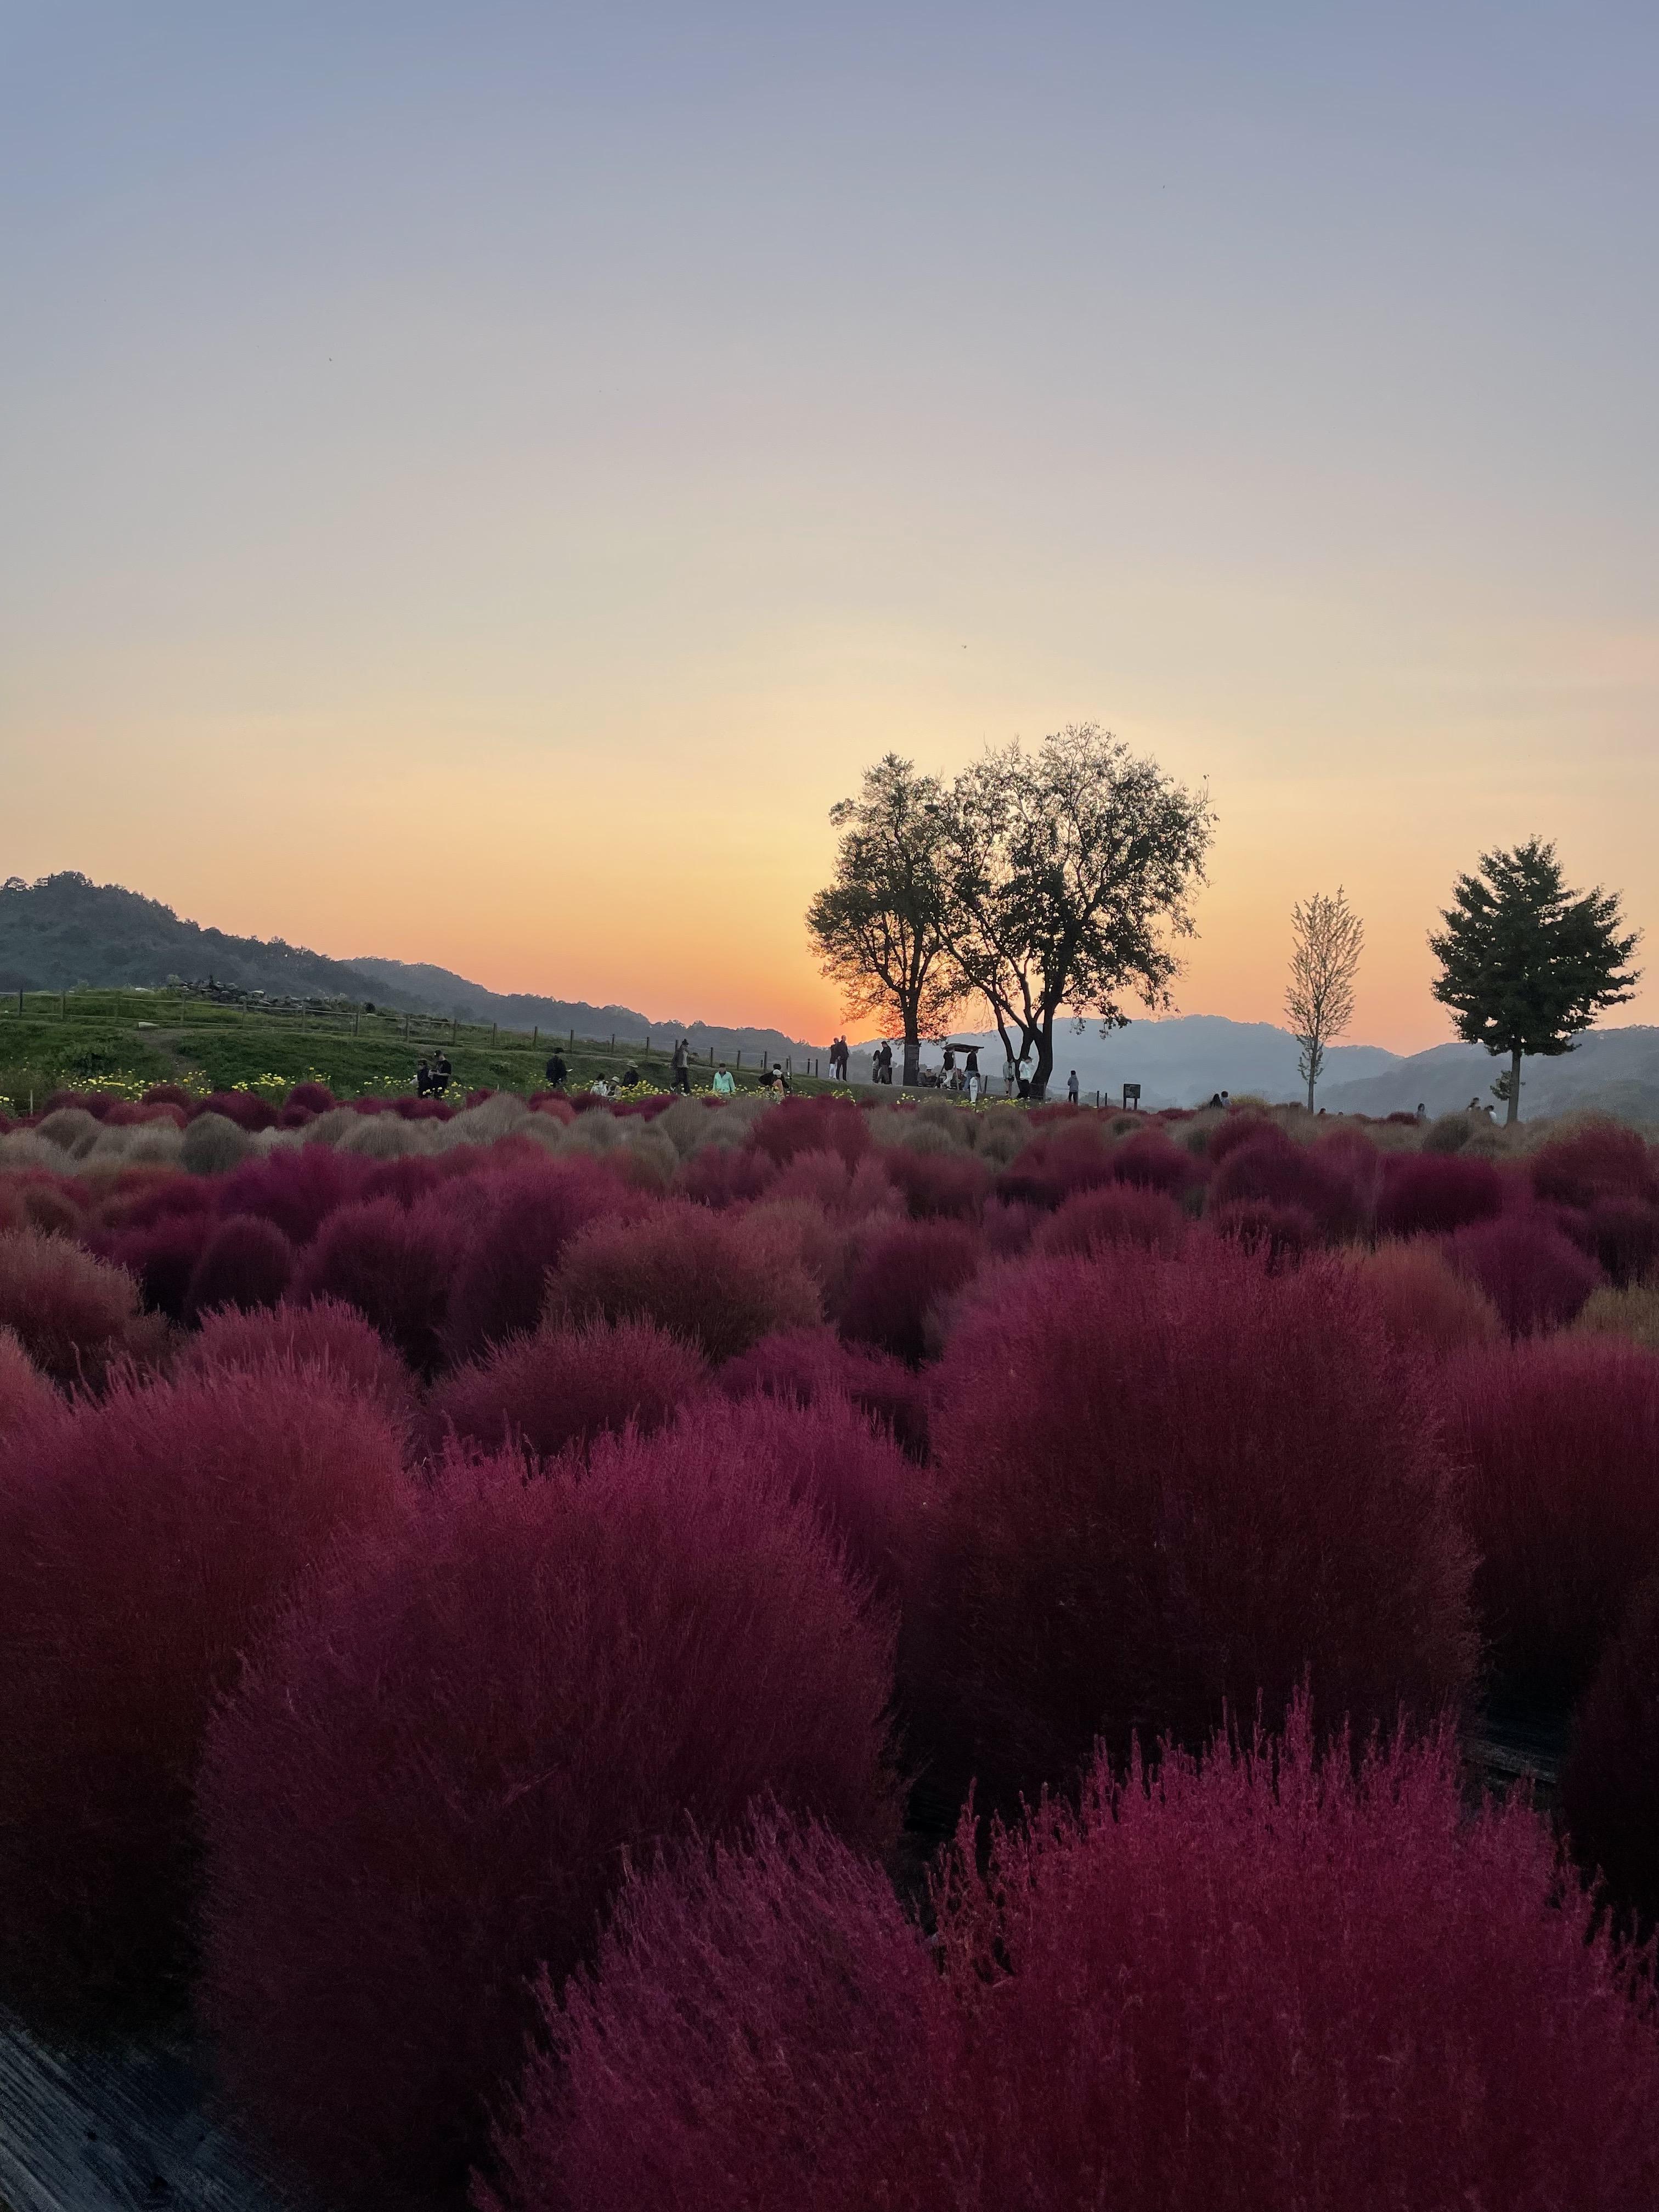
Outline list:
[[[542,2042],[478,2212],[960,2212],[956,2033],[880,1867],[761,1809],[628,1880]],[[500,2192],[500,2194],[498,2194]],[[1018,2203],[1018,2199],[1009,2199]]]

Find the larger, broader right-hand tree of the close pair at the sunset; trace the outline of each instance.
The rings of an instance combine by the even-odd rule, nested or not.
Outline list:
[[[1009,1060],[1035,1055],[1044,1097],[1062,1009],[1121,1026],[1121,995],[1170,1002],[1203,880],[1210,801],[1073,723],[991,750],[951,790],[949,940],[960,991],[984,998]]]

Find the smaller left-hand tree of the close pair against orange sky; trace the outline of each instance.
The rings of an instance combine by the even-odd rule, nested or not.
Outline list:
[[[945,790],[889,752],[830,821],[841,830],[836,876],[807,907],[807,933],[847,1011],[889,1018],[900,1031],[902,1079],[914,1084],[920,1040],[949,1020],[956,998]]]

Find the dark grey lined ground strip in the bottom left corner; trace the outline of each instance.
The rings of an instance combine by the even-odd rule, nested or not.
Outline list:
[[[0,2011],[7,2212],[296,2212],[179,2048],[51,2051]]]

